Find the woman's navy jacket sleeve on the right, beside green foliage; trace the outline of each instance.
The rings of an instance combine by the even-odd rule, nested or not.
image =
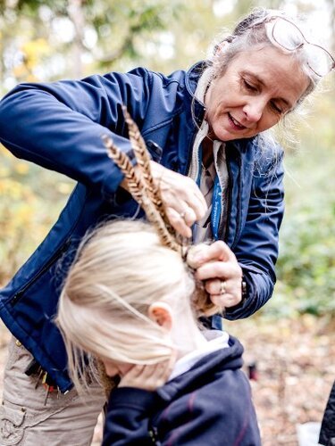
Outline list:
[[[227,310],[228,319],[247,318],[268,301],[276,282],[279,230],[284,213],[283,153],[255,170],[245,227],[233,249],[247,283],[247,299]]]

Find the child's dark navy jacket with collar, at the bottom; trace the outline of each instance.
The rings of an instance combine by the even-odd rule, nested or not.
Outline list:
[[[214,351],[156,392],[121,387],[109,401],[103,446],[261,444],[243,347]]]

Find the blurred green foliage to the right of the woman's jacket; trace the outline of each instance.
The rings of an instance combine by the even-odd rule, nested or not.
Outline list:
[[[265,314],[335,315],[335,111],[318,98],[301,144],[286,156],[278,283]],[[306,123],[307,123],[306,122]]]

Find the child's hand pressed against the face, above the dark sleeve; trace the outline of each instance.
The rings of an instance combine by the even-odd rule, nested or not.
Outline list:
[[[169,379],[174,362],[175,358],[150,366],[135,365],[121,377],[119,387],[136,387],[153,392]]]

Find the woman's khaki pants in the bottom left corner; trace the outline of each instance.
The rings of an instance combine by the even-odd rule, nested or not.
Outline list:
[[[0,407],[0,445],[89,446],[105,395],[99,386],[83,398],[71,390],[65,395],[46,389],[36,376],[24,371],[32,359],[12,339],[4,370],[4,396]],[[46,404],[45,404],[46,401]]]

